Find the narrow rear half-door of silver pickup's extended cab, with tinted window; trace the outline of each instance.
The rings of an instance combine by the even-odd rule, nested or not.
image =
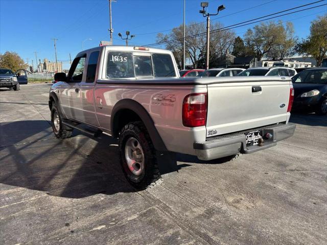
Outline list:
[[[96,83],[97,64],[99,58],[99,51],[94,51],[89,54],[86,65],[86,79],[80,83],[80,103],[81,112],[78,115],[82,116],[77,118],[80,121],[86,122],[87,124],[99,126],[99,122],[96,116],[95,110],[95,97],[94,87]]]

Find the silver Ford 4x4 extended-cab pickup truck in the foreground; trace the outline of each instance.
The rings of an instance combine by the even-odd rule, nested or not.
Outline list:
[[[91,128],[119,138],[126,178],[145,188],[160,177],[156,152],[212,160],[252,153],[293,135],[285,77],[179,78],[170,51],[100,46],[80,52],[50,89],[54,134]]]

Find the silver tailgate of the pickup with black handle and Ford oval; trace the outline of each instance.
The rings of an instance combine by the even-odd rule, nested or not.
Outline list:
[[[289,81],[213,83],[207,89],[207,137],[288,120]]]

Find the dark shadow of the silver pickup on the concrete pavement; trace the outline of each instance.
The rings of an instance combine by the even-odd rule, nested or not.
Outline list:
[[[64,198],[137,191],[125,179],[117,140],[110,136],[89,138],[75,130],[72,138],[57,139],[46,120],[1,122],[0,125],[2,184]],[[204,162],[183,154],[157,154],[161,166],[166,166],[161,174],[176,173],[192,163],[224,162]],[[178,165],[177,160],[181,161]]]

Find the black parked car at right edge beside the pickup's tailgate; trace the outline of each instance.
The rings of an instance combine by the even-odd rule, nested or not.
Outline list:
[[[301,71],[292,78],[293,110],[327,113],[327,68],[317,67]]]

